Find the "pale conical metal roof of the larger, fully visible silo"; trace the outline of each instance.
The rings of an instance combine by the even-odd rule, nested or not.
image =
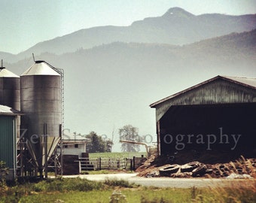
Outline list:
[[[29,69],[27,69],[21,76],[24,75],[60,75],[47,62],[36,61]]]

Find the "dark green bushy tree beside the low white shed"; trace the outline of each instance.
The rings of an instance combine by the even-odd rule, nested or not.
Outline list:
[[[111,152],[113,145],[112,141],[104,141],[101,136],[96,134],[96,132],[90,132],[90,134],[85,137],[90,139],[90,142],[87,143],[88,153]]]

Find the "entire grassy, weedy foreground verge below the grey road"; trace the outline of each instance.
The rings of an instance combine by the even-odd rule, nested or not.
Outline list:
[[[126,180],[94,182],[80,178],[56,178],[38,183],[0,183],[0,202],[179,203],[256,202],[256,180],[232,187],[190,189],[144,187]]]

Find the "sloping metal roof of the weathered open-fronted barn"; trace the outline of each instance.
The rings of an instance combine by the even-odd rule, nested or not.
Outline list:
[[[230,76],[218,75],[216,77],[213,77],[213,78],[211,78],[209,80],[204,81],[203,83],[199,83],[199,84],[197,84],[195,86],[191,86],[190,88],[184,89],[181,92],[175,93],[174,95],[170,95],[170,96],[168,96],[166,98],[163,98],[163,99],[161,99],[161,100],[159,100],[157,102],[154,102],[153,104],[150,105],[150,107],[151,108],[155,108],[157,105],[161,104],[162,102],[166,102],[167,100],[169,100],[171,98],[175,98],[178,95],[182,95],[185,92],[188,92],[188,91],[190,91],[192,89],[196,89],[199,86],[203,86],[206,83],[209,83],[209,82],[212,82],[212,81],[218,80],[218,79],[227,80],[227,81],[229,81],[231,83],[236,83],[236,84],[239,84],[241,86],[246,86],[246,87],[251,88],[251,89],[256,89],[256,78],[230,77]]]

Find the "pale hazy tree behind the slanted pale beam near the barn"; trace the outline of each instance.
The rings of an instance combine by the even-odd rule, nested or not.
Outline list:
[[[125,141],[141,141],[142,138],[139,136],[139,129],[132,125],[123,126],[119,129],[120,140]],[[139,152],[139,144],[123,143],[121,150],[123,152]]]

